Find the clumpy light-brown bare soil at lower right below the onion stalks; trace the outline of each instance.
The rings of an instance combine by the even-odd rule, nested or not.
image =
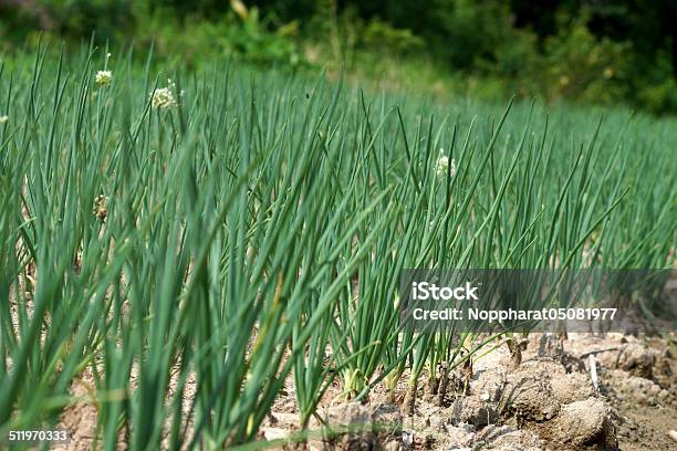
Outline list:
[[[323,419],[362,432],[277,448],[675,450],[669,431],[677,429],[676,344],[674,336],[532,334],[522,343],[519,365],[501,346],[473,363],[468,389],[449,389],[441,402],[438,394],[419,387],[413,415],[405,415],[402,403],[406,378],[396,394],[376,389],[365,403],[337,403],[330,392]],[[265,439],[298,430],[293,396],[290,385],[263,426]]]

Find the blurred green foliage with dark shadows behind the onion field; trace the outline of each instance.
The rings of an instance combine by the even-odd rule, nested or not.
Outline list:
[[[192,64],[227,55],[486,98],[677,113],[676,22],[674,0],[0,0],[0,49],[95,32]]]

